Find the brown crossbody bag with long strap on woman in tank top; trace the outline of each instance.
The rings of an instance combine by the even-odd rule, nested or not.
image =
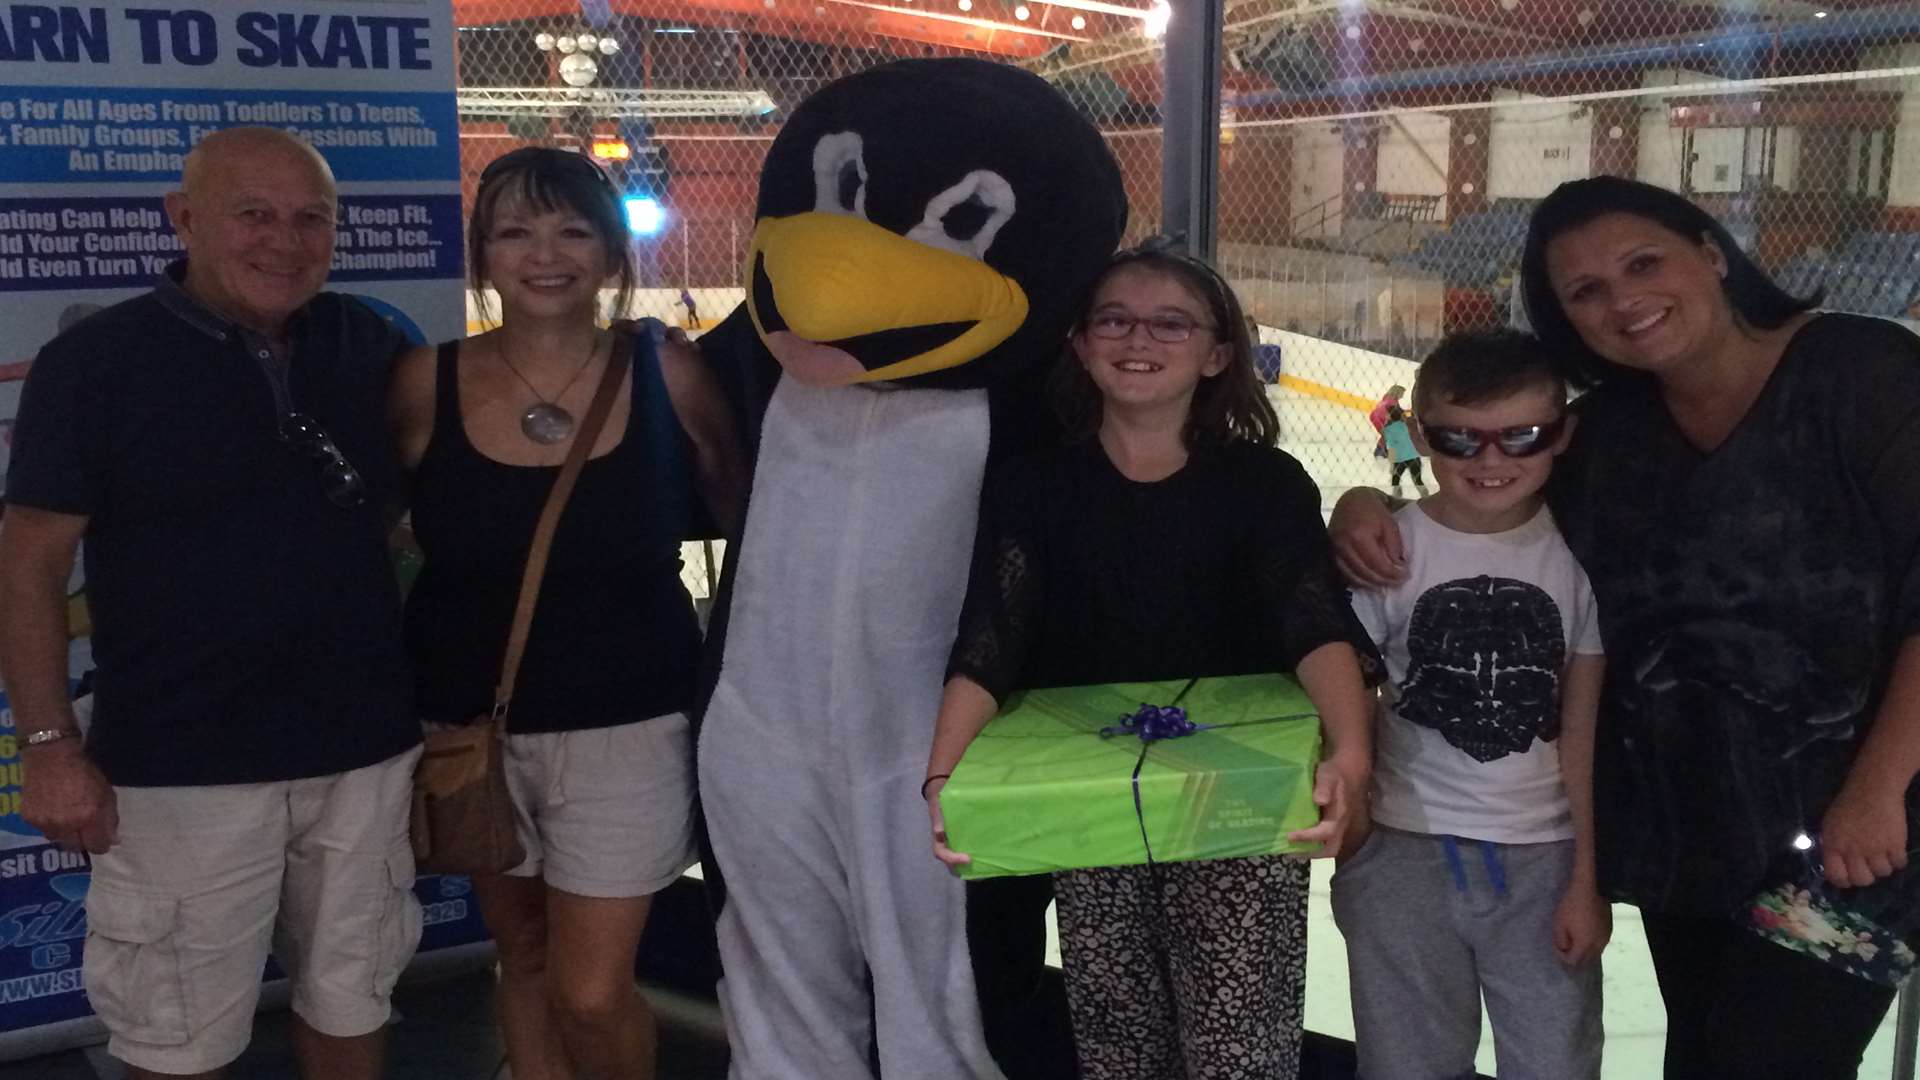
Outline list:
[[[520,575],[520,600],[507,632],[507,653],[499,661],[499,684],[493,690],[493,709],[474,723],[444,726],[426,732],[420,763],[413,773],[413,815],[407,822],[413,838],[413,857],[422,874],[501,874],[522,861],[526,849],[513,826],[513,798],[507,792],[507,709],[513,703],[513,682],[526,651],[526,632],[534,623],[534,603],[540,600],[540,578],[547,573],[547,553],[561,511],[574,492],[574,480],[593,442],[599,440],[612,398],[626,375],[632,340],[614,334],[612,354],[601,373],[586,423],[574,434],[566,463],[547,492],[547,505],[534,527],[534,546],[526,552],[526,573]]]

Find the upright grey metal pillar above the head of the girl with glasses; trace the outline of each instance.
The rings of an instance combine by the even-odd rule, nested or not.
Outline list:
[[[1213,258],[1219,204],[1219,52],[1225,0],[1171,0],[1160,102],[1160,221]]]

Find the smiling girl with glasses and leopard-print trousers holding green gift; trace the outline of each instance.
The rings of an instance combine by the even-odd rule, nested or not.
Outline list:
[[[1198,259],[1121,254],[1056,369],[1069,446],[1010,461],[981,500],[979,557],[927,761],[939,792],[1018,688],[1296,673],[1325,724],[1323,821],[1363,798],[1371,701],[1319,492],[1273,448],[1238,300]],[[1286,855],[1054,874],[1081,1076],[1292,1076],[1308,867]]]

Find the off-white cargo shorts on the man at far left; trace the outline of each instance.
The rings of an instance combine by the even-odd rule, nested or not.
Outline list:
[[[92,859],[83,957],[108,1053],[150,1072],[240,1057],[269,951],[313,1030],[384,1026],[420,944],[419,755],[273,784],[113,788],[119,842]]]

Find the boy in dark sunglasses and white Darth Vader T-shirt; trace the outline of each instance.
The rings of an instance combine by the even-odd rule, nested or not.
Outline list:
[[[1599,1076],[1594,592],[1542,488],[1572,417],[1528,334],[1440,342],[1413,384],[1438,492],[1396,513],[1407,578],[1357,590],[1386,655],[1373,834],[1342,859],[1359,1076]]]

